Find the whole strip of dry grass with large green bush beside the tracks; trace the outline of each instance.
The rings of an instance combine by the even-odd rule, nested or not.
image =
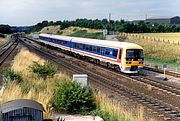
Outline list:
[[[51,118],[53,111],[99,115],[105,121],[141,121],[140,119],[143,119],[143,115],[133,116],[129,115],[131,113],[119,110],[119,105],[111,103],[97,93],[92,93],[89,88],[80,87],[62,72],[57,71],[54,76],[46,79],[39,78],[29,70],[34,62],[38,62],[41,66],[46,64],[45,60],[25,48],[15,57],[12,68],[10,72],[6,72],[6,75],[21,73],[21,81],[18,82],[16,80],[19,78],[15,78],[5,85],[0,104],[13,99],[33,99],[44,106],[45,118],[48,119]]]

